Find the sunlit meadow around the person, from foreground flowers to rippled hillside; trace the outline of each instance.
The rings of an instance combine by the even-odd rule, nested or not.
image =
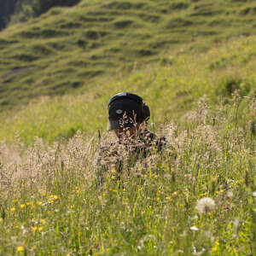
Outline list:
[[[175,65],[5,113],[1,254],[254,255],[254,42],[182,51],[166,56]],[[119,180],[108,166],[100,186],[96,158],[114,139],[105,108],[120,90],[144,97],[166,148],[127,161]]]

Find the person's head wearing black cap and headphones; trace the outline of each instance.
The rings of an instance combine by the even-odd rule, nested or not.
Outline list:
[[[113,96],[108,102],[108,131],[117,137],[134,136],[150,117],[143,98],[129,92]]]

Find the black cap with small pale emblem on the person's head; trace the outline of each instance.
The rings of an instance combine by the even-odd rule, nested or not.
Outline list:
[[[132,96],[132,97],[131,97]],[[143,120],[143,99],[120,93],[108,102],[108,130],[127,128]],[[136,99],[136,100],[135,100]]]

